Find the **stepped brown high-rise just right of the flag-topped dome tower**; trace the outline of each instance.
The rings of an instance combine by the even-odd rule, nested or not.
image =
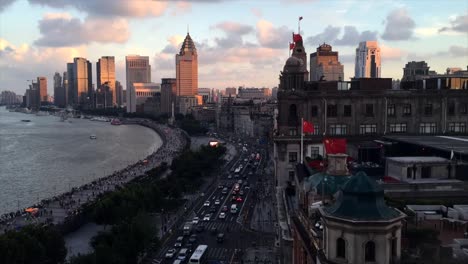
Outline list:
[[[311,81],[344,80],[343,65],[338,61],[338,52],[332,46],[323,43],[317,51],[310,54]]]

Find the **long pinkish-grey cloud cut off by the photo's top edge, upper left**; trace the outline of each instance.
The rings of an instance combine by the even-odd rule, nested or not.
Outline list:
[[[53,8],[75,8],[93,16],[155,17],[166,11],[167,1],[154,0],[28,0],[31,4]]]

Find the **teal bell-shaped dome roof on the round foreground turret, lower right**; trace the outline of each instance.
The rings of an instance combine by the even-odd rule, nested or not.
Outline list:
[[[385,204],[382,187],[362,171],[349,179],[338,200],[325,211],[334,217],[357,221],[390,220],[401,215]]]

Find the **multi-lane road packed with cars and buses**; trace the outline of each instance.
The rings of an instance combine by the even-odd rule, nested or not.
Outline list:
[[[203,202],[187,212],[184,223],[161,246],[152,263],[178,263],[178,253],[188,249],[187,258],[181,262],[187,263],[195,248],[202,244],[208,245],[205,253],[208,263],[240,262],[245,249],[257,245],[257,241],[265,241],[265,236],[250,230],[248,224],[265,150],[249,148],[243,142],[235,144],[239,150],[237,159],[218,175],[217,186],[202,194]],[[190,228],[185,235],[184,227]],[[173,256],[166,256],[173,251]]]

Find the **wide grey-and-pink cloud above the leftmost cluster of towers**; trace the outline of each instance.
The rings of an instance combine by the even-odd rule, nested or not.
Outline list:
[[[39,21],[41,37],[38,46],[66,47],[91,42],[125,43],[130,37],[127,20],[123,18],[92,18],[84,21],[69,14],[46,14]]]

